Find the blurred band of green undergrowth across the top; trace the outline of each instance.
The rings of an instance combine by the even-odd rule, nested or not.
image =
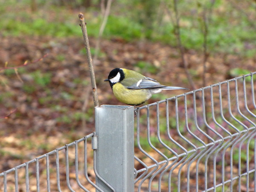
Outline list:
[[[38,5],[42,8],[31,14],[27,11],[27,5],[24,2],[9,1],[1,5],[0,15],[5,18],[0,20],[0,30],[3,35],[47,35],[63,38],[81,36],[79,20],[73,14],[68,14],[65,3],[60,6],[58,3],[47,4],[44,1],[38,1]],[[81,4],[81,2],[76,3]],[[19,7],[18,17],[15,11],[7,11],[11,8],[15,10],[17,7]],[[169,1],[119,1],[111,7],[111,15],[103,38],[116,37],[126,41],[148,38],[151,41],[177,46],[173,7],[173,2]],[[186,49],[203,49],[204,19],[202,15],[206,8],[207,14],[212,9],[207,35],[209,52],[239,53],[247,57],[253,57],[256,54],[256,33],[252,21],[241,14],[241,11],[234,9],[230,3],[216,0],[212,6],[211,1],[178,1],[177,8],[180,15],[181,42]],[[166,10],[169,10],[171,15],[168,15]],[[249,12],[254,14],[252,9],[246,11],[248,15]],[[102,15],[95,7],[90,7],[86,13],[87,33],[97,37]],[[62,59],[62,56],[58,58],[58,60]]]

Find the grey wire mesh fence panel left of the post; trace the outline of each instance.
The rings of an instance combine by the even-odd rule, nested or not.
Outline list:
[[[0,191],[95,190],[92,137],[93,133],[0,173]]]

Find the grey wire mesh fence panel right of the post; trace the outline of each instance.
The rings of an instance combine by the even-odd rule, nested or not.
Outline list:
[[[255,74],[137,108],[135,191],[256,191]]]

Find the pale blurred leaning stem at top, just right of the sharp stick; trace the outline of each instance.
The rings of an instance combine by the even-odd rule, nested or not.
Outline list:
[[[108,21],[108,15],[109,15],[109,12],[110,12],[111,3],[112,3],[112,0],[108,0],[106,9],[104,8],[104,10],[105,10],[104,17],[103,17],[103,21],[102,21],[102,24],[101,24],[100,29],[99,29],[99,36],[98,36],[97,41],[96,41],[95,54],[94,54],[94,57],[93,57],[93,61],[96,61],[96,59],[99,55],[100,40],[102,38],[102,34],[104,32],[105,26],[106,26],[107,21]],[[104,6],[102,6],[102,7],[104,7]]]

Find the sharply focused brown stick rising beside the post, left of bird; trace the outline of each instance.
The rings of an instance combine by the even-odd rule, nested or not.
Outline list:
[[[79,13],[78,16],[80,19],[80,26],[81,26],[81,29],[83,32],[84,45],[85,45],[87,60],[88,60],[88,64],[89,64],[90,79],[91,79],[91,83],[92,83],[93,103],[94,103],[94,107],[96,107],[96,106],[99,106],[99,100],[98,100],[98,94],[97,94],[95,75],[94,75],[94,71],[93,71],[93,61],[92,61],[92,56],[90,54],[89,40],[88,40],[87,31],[86,31],[86,23],[84,23],[84,15],[82,13]]]

